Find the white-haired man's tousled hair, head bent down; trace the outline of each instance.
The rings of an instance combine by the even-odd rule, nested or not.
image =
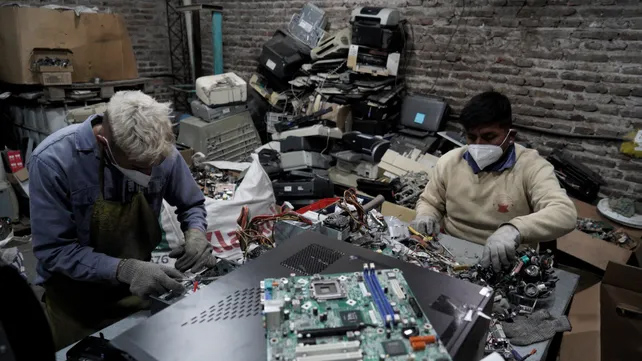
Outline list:
[[[107,104],[112,140],[130,160],[153,164],[171,154],[174,140],[169,103],[141,91],[119,91]]]

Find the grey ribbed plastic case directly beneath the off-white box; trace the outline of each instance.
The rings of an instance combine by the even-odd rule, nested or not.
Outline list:
[[[208,123],[197,117],[181,120],[178,142],[205,154],[207,160],[242,161],[261,146],[250,112]]]

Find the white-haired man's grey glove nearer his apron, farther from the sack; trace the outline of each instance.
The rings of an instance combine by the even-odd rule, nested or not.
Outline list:
[[[127,283],[131,293],[139,297],[182,291],[183,285],[172,278],[180,279],[183,275],[172,267],[137,259],[122,260],[116,273],[116,279]]]

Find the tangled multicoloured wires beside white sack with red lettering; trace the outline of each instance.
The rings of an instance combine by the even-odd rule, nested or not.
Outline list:
[[[265,248],[273,248],[274,239],[272,234],[274,233],[274,223],[288,220],[312,224],[309,219],[300,214],[289,210],[283,211],[282,209],[279,209],[278,214],[259,215],[250,219],[250,209],[247,206],[243,206],[241,214],[236,219],[236,223],[239,226],[236,230],[236,236],[239,239],[243,257],[247,257],[248,248],[252,243],[256,243]],[[266,234],[269,235],[269,237]]]

